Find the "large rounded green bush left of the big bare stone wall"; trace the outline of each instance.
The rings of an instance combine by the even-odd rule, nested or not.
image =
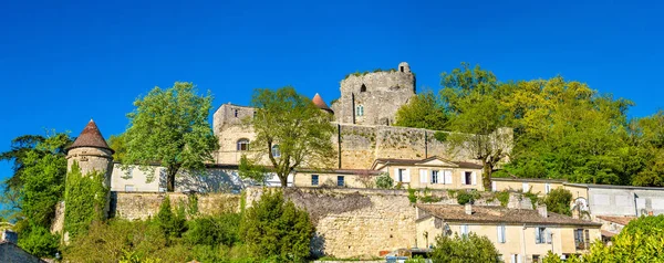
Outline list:
[[[240,222],[247,252],[258,259],[303,261],[309,256],[313,230],[309,213],[286,201],[281,191],[266,190]]]

